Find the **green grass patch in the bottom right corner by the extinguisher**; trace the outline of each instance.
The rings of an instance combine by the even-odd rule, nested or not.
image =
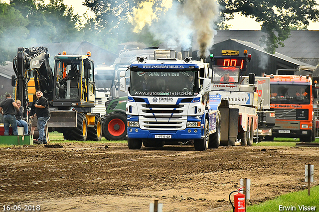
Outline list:
[[[308,196],[308,189],[281,195],[274,200],[270,200],[259,205],[248,206],[247,212],[279,212],[279,206],[296,207],[296,210],[294,211],[303,211],[300,210],[298,206],[316,206],[317,208],[315,212],[319,212],[319,186],[311,189],[310,196]]]

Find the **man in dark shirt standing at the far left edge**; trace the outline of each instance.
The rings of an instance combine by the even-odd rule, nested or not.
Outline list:
[[[10,94],[5,95],[5,99],[0,104],[0,113],[3,115],[4,135],[9,135],[9,125],[11,124],[13,135],[18,135],[16,125],[15,109],[19,109]]]

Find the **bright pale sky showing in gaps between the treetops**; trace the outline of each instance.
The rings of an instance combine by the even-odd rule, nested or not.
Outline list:
[[[4,0],[4,2],[9,3],[10,0]],[[74,11],[79,15],[83,15],[83,13],[87,12],[89,16],[94,16],[94,13],[87,9],[86,6],[82,5],[84,0],[64,0],[64,4],[68,6],[72,6]],[[319,3],[319,0],[316,0]],[[48,3],[49,0],[45,0],[44,2]],[[231,30],[260,30],[260,23],[256,22],[252,18],[246,18],[240,14],[236,14],[233,20],[226,21],[227,24],[231,24]],[[319,22],[313,23],[311,22],[308,26],[309,30],[319,30]]]

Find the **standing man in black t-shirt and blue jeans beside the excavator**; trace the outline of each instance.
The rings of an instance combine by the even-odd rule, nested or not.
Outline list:
[[[48,101],[43,97],[41,91],[37,90],[35,92],[36,98],[38,99],[35,106],[36,117],[38,118],[38,131],[39,138],[37,141],[34,141],[37,144],[47,144],[44,128],[48,120],[50,119],[50,109]]]

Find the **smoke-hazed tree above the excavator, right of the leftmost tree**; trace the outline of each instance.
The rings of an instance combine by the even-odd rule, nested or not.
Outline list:
[[[48,4],[44,4],[44,0],[10,0],[10,4],[28,20],[28,38],[35,39],[38,44],[83,38],[79,15],[63,0],[50,0]]]

